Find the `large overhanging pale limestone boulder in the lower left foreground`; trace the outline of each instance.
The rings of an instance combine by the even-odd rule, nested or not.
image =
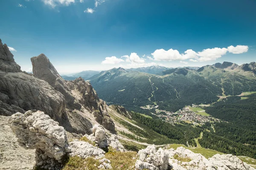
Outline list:
[[[36,149],[35,166],[45,169],[61,167],[61,159],[66,154],[67,137],[58,122],[44,112],[28,111],[12,115],[9,124],[22,147]]]

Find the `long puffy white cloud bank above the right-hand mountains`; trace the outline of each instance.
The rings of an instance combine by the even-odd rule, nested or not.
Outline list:
[[[153,55],[155,61],[175,61],[175,60],[187,60],[189,61],[214,61],[217,58],[221,58],[223,55],[227,54],[227,52],[233,54],[241,54],[247,52],[249,49],[248,46],[238,45],[236,47],[229,46],[227,48],[212,48],[212,49],[204,49],[201,52],[195,52],[192,49],[188,49],[184,52],[184,54],[180,54],[180,52],[176,49],[169,49],[168,51],[164,49],[157,49],[151,55]]]

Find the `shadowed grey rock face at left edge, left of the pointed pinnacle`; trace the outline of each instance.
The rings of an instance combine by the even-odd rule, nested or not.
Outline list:
[[[64,96],[47,82],[21,72],[12,53],[0,40],[0,114],[12,115],[26,110],[44,110],[61,121],[66,107]]]

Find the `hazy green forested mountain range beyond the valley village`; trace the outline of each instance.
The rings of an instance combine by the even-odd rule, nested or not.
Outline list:
[[[146,73],[152,72],[150,68],[163,71],[158,75]],[[100,98],[127,108],[158,105],[160,109],[176,111],[186,105],[212,103],[218,100],[217,96],[256,91],[255,62],[241,66],[216,63],[198,70],[150,68],[126,70],[119,67],[89,79]]]

